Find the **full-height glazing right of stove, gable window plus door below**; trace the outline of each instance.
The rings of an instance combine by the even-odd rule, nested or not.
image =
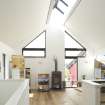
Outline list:
[[[65,31],[65,87],[77,87],[78,58],[85,54],[86,48]]]

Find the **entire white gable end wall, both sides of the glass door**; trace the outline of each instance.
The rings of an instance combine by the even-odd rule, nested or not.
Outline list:
[[[56,27],[48,27],[46,34],[46,58],[26,58],[26,67],[32,70],[33,88],[37,82],[37,74],[54,70],[53,56],[58,58],[58,70],[64,71],[64,32]],[[85,58],[78,58],[78,80],[82,80],[82,75],[86,79],[94,79],[94,53],[86,52]],[[50,75],[51,76],[51,75]],[[64,73],[63,73],[64,80]]]

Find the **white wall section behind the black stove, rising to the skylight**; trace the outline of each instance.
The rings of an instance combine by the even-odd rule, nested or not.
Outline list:
[[[64,71],[64,33],[57,27],[47,28],[46,33],[46,58],[26,58],[26,67],[32,70],[33,88],[37,81],[37,74],[40,72],[50,73],[55,70],[53,56],[57,57],[58,70]],[[64,80],[64,73],[62,73]]]

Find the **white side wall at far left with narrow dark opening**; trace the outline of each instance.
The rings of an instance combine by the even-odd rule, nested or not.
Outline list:
[[[2,54],[6,54],[5,79],[8,79],[9,78],[9,61],[10,61],[11,55],[14,53],[15,51],[11,47],[0,42],[0,63],[1,63],[0,80],[4,79],[4,67],[3,67]]]

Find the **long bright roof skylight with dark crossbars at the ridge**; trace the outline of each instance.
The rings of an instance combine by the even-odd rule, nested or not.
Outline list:
[[[81,0],[56,0],[50,15],[49,23],[53,26],[64,25]]]

